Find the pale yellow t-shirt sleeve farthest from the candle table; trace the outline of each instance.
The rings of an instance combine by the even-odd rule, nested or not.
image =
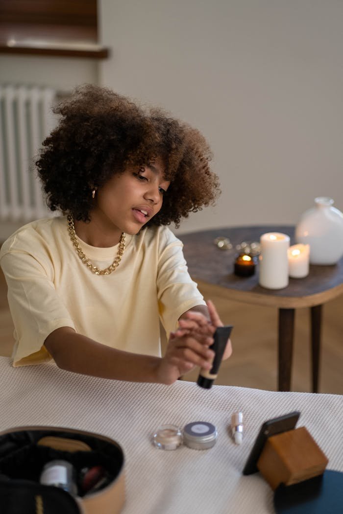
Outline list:
[[[14,323],[13,366],[51,359],[44,341],[62,326],[74,327],[46,267],[26,252],[2,252],[1,267],[8,285]]]

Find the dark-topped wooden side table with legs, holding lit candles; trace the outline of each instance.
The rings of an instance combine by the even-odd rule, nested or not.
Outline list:
[[[284,289],[265,289],[257,272],[242,278],[233,274],[236,245],[259,241],[265,232],[282,232],[291,237],[292,226],[256,226],[212,229],[179,236],[192,278],[201,286],[210,284],[220,296],[245,303],[278,307],[278,389],[290,391],[293,356],[294,314],[299,307],[311,309],[312,390],[318,392],[322,305],[343,293],[343,258],[333,266],[310,265],[309,276],[290,279]],[[216,237],[228,237],[231,250],[213,244]]]

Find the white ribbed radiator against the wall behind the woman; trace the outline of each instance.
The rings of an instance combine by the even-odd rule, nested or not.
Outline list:
[[[34,157],[56,125],[56,91],[0,85],[0,222],[50,216],[34,171]]]

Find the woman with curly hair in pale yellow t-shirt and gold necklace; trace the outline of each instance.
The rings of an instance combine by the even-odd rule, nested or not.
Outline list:
[[[210,369],[222,323],[167,228],[219,193],[204,137],[92,85],[55,112],[36,165],[50,209],[63,215],[22,227],[0,253],[13,365],[52,358],[77,373],[166,384],[196,365]]]

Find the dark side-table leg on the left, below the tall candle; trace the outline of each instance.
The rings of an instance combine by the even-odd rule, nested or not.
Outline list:
[[[279,391],[291,391],[294,309],[279,309]]]

